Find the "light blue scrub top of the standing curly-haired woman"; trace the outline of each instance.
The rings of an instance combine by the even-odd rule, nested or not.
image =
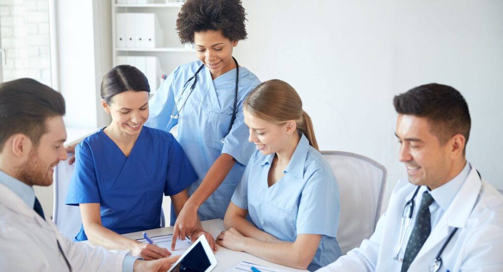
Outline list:
[[[178,124],[178,142],[199,176],[199,180],[189,187],[189,195],[196,191],[210,167],[222,153],[236,159],[237,163],[222,184],[198,211],[201,220],[223,219],[232,193],[255,150],[255,146],[248,143],[248,128],[243,119],[243,102],[246,95],[259,85],[260,81],[248,69],[239,67],[236,119],[222,147],[220,140],[227,133],[232,117],[236,86],[235,69],[212,80],[210,71],[204,67],[197,76],[197,84],[180,112],[179,119],[170,118],[185,82],[201,65],[201,61],[195,61],[179,66],[171,73],[149,101],[150,117],[146,125],[170,131]],[[178,109],[189,94],[192,83],[193,80],[187,84]],[[175,220],[176,217],[172,212],[172,225]]]

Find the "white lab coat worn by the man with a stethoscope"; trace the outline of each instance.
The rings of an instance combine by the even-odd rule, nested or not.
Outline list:
[[[407,180],[399,181],[370,239],[317,271],[400,271],[402,263],[393,256],[398,247],[402,211],[415,189]],[[503,196],[480,180],[475,168],[408,271],[429,271],[455,227],[459,229],[441,255],[443,264],[439,271],[503,271]]]

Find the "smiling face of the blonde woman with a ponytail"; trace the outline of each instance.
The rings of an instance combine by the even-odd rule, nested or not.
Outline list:
[[[275,124],[252,115],[246,109],[243,114],[250,133],[248,142],[254,143],[264,155],[282,152],[288,147],[293,132],[297,133],[294,121]]]

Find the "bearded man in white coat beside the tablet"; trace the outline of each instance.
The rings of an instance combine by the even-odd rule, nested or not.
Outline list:
[[[0,271],[165,271],[177,257],[73,243],[44,216],[33,185],[49,186],[66,159],[63,97],[33,79],[0,85]]]

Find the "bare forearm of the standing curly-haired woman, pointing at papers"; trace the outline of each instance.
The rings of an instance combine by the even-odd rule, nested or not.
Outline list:
[[[220,155],[210,167],[201,185],[199,185],[194,194],[192,194],[186,205],[199,208],[199,206],[215,192],[218,186],[222,184],[235,162],[236,160],[228,154],[224,153]]]

